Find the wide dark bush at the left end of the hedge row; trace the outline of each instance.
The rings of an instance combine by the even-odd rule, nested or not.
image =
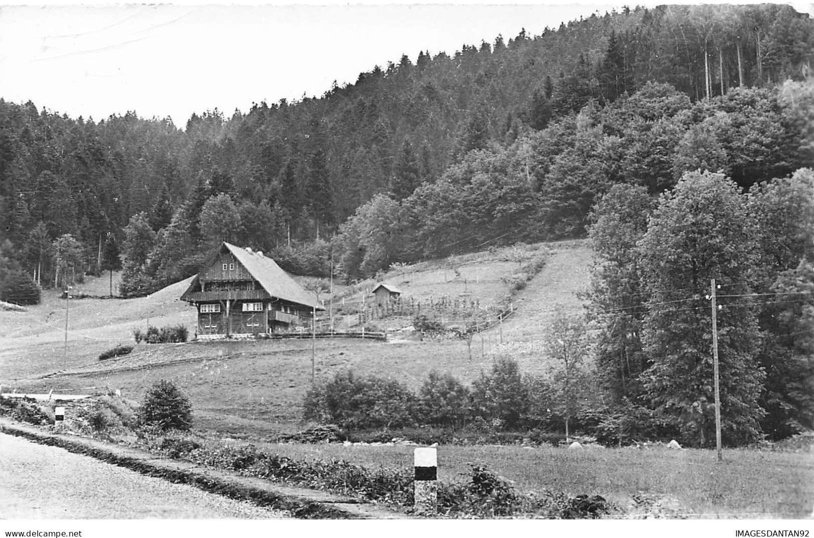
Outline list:
[[[360,378],[348,370],[306,392],[304,418],[344,429],[411,426],[415,423],[415,400],[415,395],[397,381]]]

